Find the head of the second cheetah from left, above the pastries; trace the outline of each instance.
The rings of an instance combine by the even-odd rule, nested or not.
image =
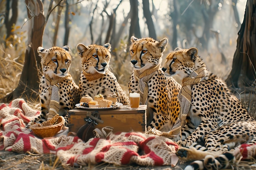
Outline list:
[[[78,44],[76,49],[81,57],[82,68],[86,73],[106,73],[111,58],[109,43],[103,46],[94,44],[88,47]]]

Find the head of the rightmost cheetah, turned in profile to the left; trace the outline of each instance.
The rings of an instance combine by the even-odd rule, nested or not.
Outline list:
[[[198,68],[196,61],[198,49],[180,49],[176,48],[171,51],[167,57],[162,71],[165,77],[179,75],[181,78],[188,77],[193,71]],[[199,58],[199,57],[198,57]]]

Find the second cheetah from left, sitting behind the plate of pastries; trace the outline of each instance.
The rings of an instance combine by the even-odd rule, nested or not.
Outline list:
[[[130,100],[110,71],[111,45],[78,44],[76,49],[81,57],[83,71],[79,80],[80,98],[102,94],[104,97],[116,94],[118,102],[130,105]]]

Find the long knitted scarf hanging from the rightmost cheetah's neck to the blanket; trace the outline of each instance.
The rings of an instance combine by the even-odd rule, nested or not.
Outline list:
[[[175,137],[179,135],[181,129],[186,124],[186,116],[189,113],[191,106],[191,87],[193,84],[198,84],[205,79],[206,68],[201,67],[193,71],[189,77],[186,77],[182,80],[182,88],[178,94],[178,100],[180,102],[180,114],[174,124],[173,128],[169,132],[161,132],[159,130],[152,129],[151,132],[155,135],[165,136],[165,137]]]

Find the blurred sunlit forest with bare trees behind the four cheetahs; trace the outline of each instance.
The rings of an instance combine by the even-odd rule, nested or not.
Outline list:
[[[246,5],[246,0],[0,0],[0,102],[18,97],[39,102],[38,46],[70,46],[70,72],[79,84],[79,43],[111,44],[112,72],[128,93],[131,35],[168,38],[163,62],[176,47],[197,47],[208,69],[227,79]],[[229,85],[240,94],[248,83]]]

